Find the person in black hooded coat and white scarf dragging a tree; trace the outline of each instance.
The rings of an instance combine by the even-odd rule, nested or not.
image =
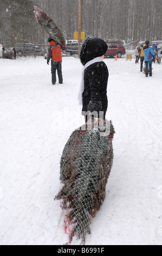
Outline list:
[[[107,48],[105,41],[90,36],[81,47],[80,60],[84,67],[79,97],[82,97],[80,103],[83,106],[82,115],[85,115],[86,123],[92,112],[97,112],[96,118],[102,116],[105,120],[108,107],[107,82],[109,74],[102,56],[106,53]]]

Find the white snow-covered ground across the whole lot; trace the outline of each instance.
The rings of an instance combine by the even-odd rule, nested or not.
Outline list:
[[[161,245],[162,65],[153,64],[153,77],[145,78],[134,59],[105,62],[115,157],[86,245]],[[64,83],[52,86],[43,58],[0,59],[1,245],[68,241],[53,199],[63,147],[83,123],[76,100],[82,66],[73,57],[63,58],[62,66]]]

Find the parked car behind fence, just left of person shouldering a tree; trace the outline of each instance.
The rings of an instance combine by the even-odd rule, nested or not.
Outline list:
[[[27,42],[17,42],[16,44],[16,53],[18,55],[28,55],[40,52],[40,48],[37,45],[27,43]]]

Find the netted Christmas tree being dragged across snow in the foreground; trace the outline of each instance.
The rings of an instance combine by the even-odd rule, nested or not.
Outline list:
[[[112,122],[88,122],[75,130],[61,157],[61,182],[55,199],[61,201],[69,243],[73,236],[85,243],[90,222],[100,210],[113,164]]]

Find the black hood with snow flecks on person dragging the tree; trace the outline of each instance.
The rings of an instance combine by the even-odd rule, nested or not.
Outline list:
[[[88,36],[82,44],[80,61],[83,66],[90,60],[104,55],[107,51],[107,44],[100,38]]]

